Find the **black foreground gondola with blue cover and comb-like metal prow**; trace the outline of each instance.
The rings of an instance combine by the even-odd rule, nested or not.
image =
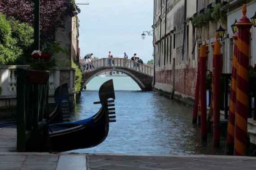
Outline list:
[[[102,143],[109,131],[109,122],[115,122],[115,92],[113,80],[106,81],[99,89],[101,108],[91,118],[77,122],[63,122],[48,126],[49,150],[65,152],[89,148]]]

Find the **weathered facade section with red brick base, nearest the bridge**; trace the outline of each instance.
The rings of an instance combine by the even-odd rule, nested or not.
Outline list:
[[[155,89],[193,97],[196,84],[196,28],[189,20],[196,0],[154,0]]]

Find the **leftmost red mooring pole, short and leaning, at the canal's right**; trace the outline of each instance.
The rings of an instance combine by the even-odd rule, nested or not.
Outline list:
[[[198,61],[198,64],[197,64],[197,76],[196,76],[196,91],[195,91],[195,100],[194,100],[194,109],[193,109],[193,117],[192,117],[192,123],[193,124],[196,124],[197,123],[197,112],[198,112],[198,103],[199,103],[199,90],[200,90],[200,79],[199,79],[199,76],[200,76],[200,64],[199,64],[199,61]]]

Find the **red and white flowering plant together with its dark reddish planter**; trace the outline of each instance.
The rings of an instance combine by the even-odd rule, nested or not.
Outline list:
[[[51,55],[42,53],[41,51],[33,51],[31,54],[32,63],[29,69],[29,81],[32,83],[46,83],[50,72],[47,71],[51,67]]]

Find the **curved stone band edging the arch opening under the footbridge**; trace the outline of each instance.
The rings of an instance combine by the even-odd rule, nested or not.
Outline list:
[[[131,77],[138,84],[138,86],[141,88],[141,90],[146,88],[144,83],[142,81],[140,81],[140,79],[137,76],[135,76],[131,72],[129,72],[129,71],[125,70],[125,69],[122,69],[122,68],[105,68],[105,69],[102,69],[102,70],[98,70],[94,74],[92,74],[88,79],[86,79],[85,82],[83,82],[83,87],[85,87],[86,84],[88,84],[89,81],[91,81],[95,76],[97,76],[97,75],[99,75],[99,74],[101,74],[103,72],[108,72],[108,71],[123,72],[123,73],[127,74],[129,77]]]

